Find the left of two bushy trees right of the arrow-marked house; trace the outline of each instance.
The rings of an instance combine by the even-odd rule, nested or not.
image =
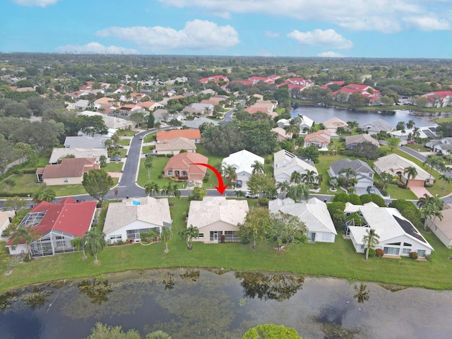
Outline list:
[[[245,220],[239,224],[239,237],[252,243],[251,248],[256,249],[257,242],[264,239],[272,225],[268,209],[252,208],[246,213]]]

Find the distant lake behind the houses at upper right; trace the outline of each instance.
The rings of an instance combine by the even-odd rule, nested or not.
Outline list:
[[[292,117],[296,117],[298,114],[306,115],[307,117],[316,121],[317,124],[321,122],[331,119],[333,117],[338,117],[343,121],[358,121],[359,125],[367,124],[370,121],[374,121],[377,119],[383,119],[387,121],[389,124],[396,127],[398,121],[414,120],[415,126],[423,127],[423,126],[434,126],[436,124],[427,121],[426,118],[433,117],[443,117],[448,114],[444,114],[441,112],[432,113],[432,114],[413,114],[412,112],[406,109],[397,109],[393,112],[355,112],[350,111],[348,109],[336,109],[331,107],[316,107],[316,106],[300,106],[292,110]]]

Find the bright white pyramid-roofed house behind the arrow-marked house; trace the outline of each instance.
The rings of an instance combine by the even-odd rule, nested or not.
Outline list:
[[[221,165],[222,167],[232,166],[237,174],[237,189],[239,191],[248,191],[248,182],[253,172],[252,165],[254,162],[259,162],[263,165],[263,157],[249,152],[248,150],[239,150],[239,152],[232,153],[225,157]]]

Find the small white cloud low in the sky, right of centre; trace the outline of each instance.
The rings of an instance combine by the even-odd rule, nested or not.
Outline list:
[[[338,34],[335,30],[311,30],[310,32],[300,32],[294,30],[287,34],[296,40],[299,44],[306,46],[321,46],[336,49],[347,49],[353,47],[353,42],[345,39],[342,35]]]

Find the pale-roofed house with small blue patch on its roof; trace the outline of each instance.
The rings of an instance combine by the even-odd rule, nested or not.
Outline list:
[[[172,227],[167,198],[129,198],[120,203],[109,203],[105,217],[105,240],[140,242],[142,233],[157,232]]]

